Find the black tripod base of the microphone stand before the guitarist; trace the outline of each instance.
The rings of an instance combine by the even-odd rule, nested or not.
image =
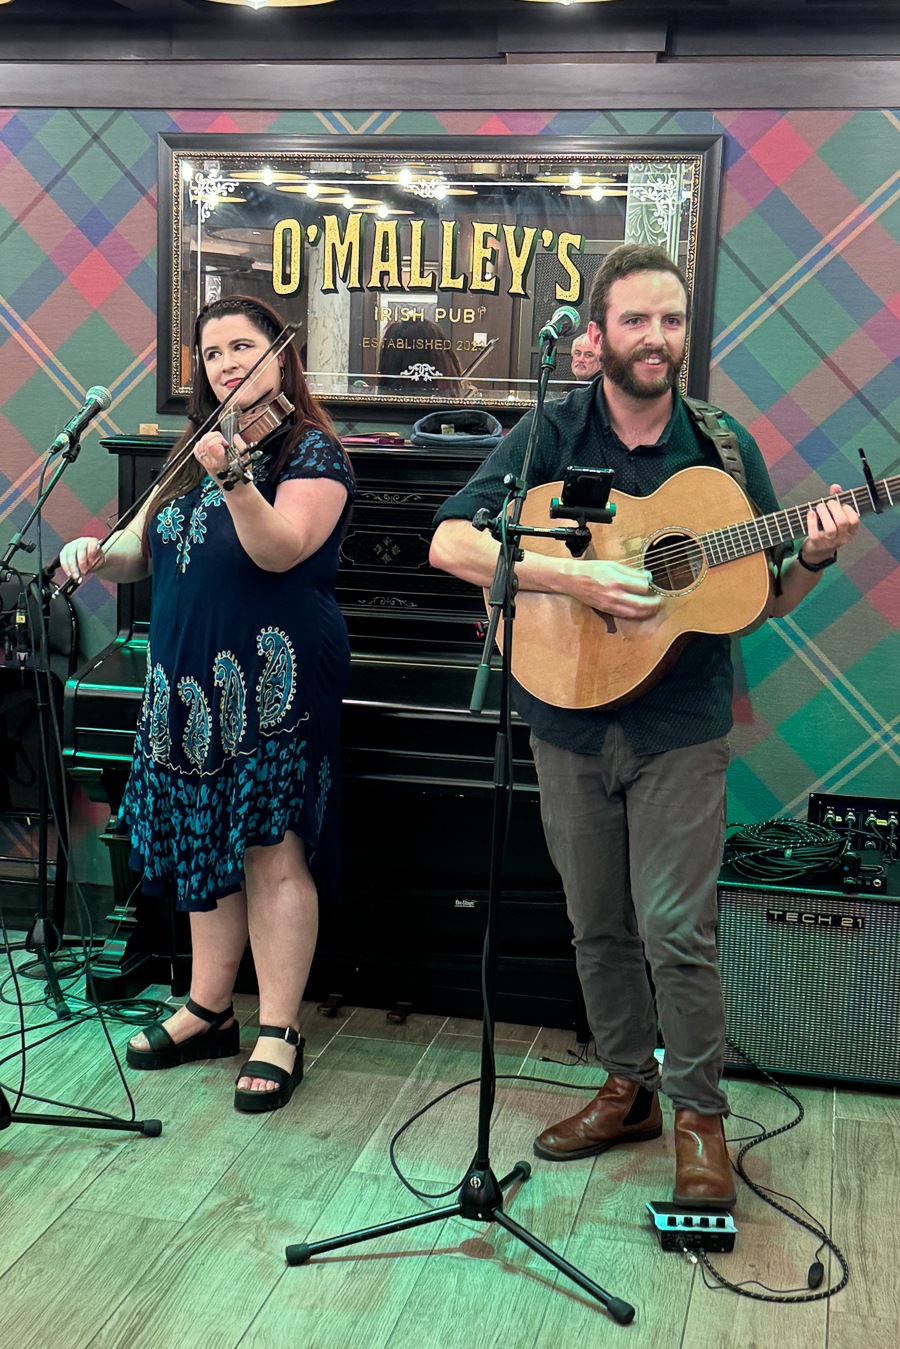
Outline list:
[[[474,1164],[460,1187],[457,1203],[449,1203],[443,1209],[432,1209],[429,1213],[410,1214],[407,1218],[395,1218],[393,1222],[378,1222],[371,1228],[360,1228],[359,1232],[345,1232],[340,1237],[329,1237],[325,1241],[302,1241],[285,1249],[285,1260],[289,1265],[308,1264],[313,1256],[325,1255],[328,1251],[340,1251],[343,1246],[355,1246],[360,1241],[372,1241],[376,1237],[387,1237],[394,1232],[409,1232],[412,1228],[424,1228],[429,1222],[444,1222],[445,1218],[466,1218],[476,1222],[495,1222],[522,1245],[526,1245],[536,1255],[552,1264],[555,1269],[564,1273],[567,1279],[576,1283],[579,1288],[588,1292],[602,1303],[609,1314],[621,1326],[627,1326],[634,1321],[634,1307],[614,1298],[599,1283],[594,1283],[587,1275],[576,1269],[573,1264],[552,1251],[551,1246],[540,1241],[526,1228],[503,1213],[503,1190],[514,1180],[528,1180],[532,1168],[528,1161],[517,1161],[509,1175],[498,1180],[488,1166]]]

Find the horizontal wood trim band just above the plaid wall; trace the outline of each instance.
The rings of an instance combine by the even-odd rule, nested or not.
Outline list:
[[[0,62],[9,108],[892,108],[896,61],[660,65]]]

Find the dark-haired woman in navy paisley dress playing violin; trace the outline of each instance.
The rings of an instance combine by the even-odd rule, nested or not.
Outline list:
[[[186,1005],[136,1035],[128,1063],[167,1068],[239,1052],[231,994],[250,938],[260,1035],[235,1091],[246,1112],[286,1105],[302,1077],[297,1028],[317,888],[333,892],[339,867],[349,661],[335,575],[352,471],[293,347],[242,386],[281,328],[274,310],[243,295],[208,305],[194,325],[189,430],[235,390],[248,441],[259,409],[279,395],[273,422],[291,409],[254,447],[248,480],[223,484],[227,442],[209,430],[104,549],[77,538],[61,557],[77,579],[154,577],[147,684],[120,815],[144,890],[190,913],[193,967]],[[233,447],[247,442],[236,437]]]

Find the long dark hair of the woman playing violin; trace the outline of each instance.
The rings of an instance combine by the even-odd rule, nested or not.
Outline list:
[[[200,353],[200,343],[202,340],[204,328],[213,318],[229,318],[236,314],[243,314],[248,318],[252,326],[260,332],[269,343],[274,341],[285,326],[270,305],[262,299],[255,299],[252,295],[225,295],[223,299],[213,299],[212,304],[200,310],[194,320],[194,331],[190,343],[192,380],[190,398],[188,401],[188,426],[169,451],[163,464],[163,473],[169,464],[178,459],[190,437],[197,433],[197,428],[202,426],[216,407],[219,407],[219,399],[212,391],[212,386],[206,376],[206,367],[204,366],[202,356]],[[275,479],[278,478],[278,473],[290,459],[304,434],[312,428],[324,432],[325,436],[332,438],[335,445],[341,449],[344,461],[347,463],[347,468],[349,469],[349,475],[352,478],[352,465],[340,445],[331,417],[324,407],[318,406],[313,395],[309,393],[309,386],[306,384],[306,378],[304,375],[304,367],[300,363],[300,356],[297,355],[293,343],[289,343],[283,352],[281,387],[282,393],[294,405],[294,411],[287,418],[290,422],[290,430],[285,437],[278,459],[270,469],[270,476],[274,476]],[[210,429],[215,429],[215,425],[212,425]],[[193,488],[197,487],[205,476],[206,469],[197,463],[193,455],[189,455],[181,468],[173,473],[167,482],[162,483],[157,492],[154,492],[150,498],[142,534],[142,552],[144,557],[150,556],[151,519],[154,519],[154,517],[158,515],[163,506],[167,506],[169,502],[193,491]]]

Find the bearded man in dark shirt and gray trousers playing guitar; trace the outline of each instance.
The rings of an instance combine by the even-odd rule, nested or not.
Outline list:
[[[603,375],[545,409],[529,486],[556,482],[579,464],[611,468],[621,491],[648,496],[683,469],[722,468],[676,387],[690,318],[676,264],[661,248],[623,244],[600,264],[590,312]],[[439,510],[434,567],[490,585],[498,545],[470,522],[482,507],[501,509],[503,476],[522,463],[528,422]],[[725,422],[738,440],[750,500],[758,511],[777,511],[756,441],[734,418]],[[773,577],[772,616],[810,594],[857,529],[841,488],[830,491],[807,513],[797,556]],[[622,560],[526,552],[517,577],[524,599],[571,596],[638,634],[658,622],[664,604],[650,571]],[[583,1110],[537,1137],[534,1151],[568,1161],[656,1139],[661,1087],[675,1106],[676,1201],[729,1207],[715,946],[733,692],[730,638],[722,633],[690,639],[652,687],[617,704],[553,706],[518,683],[514,693],[532,728],[544,831],[563,877],[596,1056],[609,1074]]]

